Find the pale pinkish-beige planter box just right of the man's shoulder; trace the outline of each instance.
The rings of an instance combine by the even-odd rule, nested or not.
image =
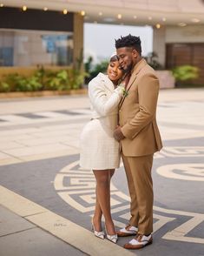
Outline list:
[[[156,75],[160,80],[160,88],[174,88],[175,79],[172,71],[156,71]]]

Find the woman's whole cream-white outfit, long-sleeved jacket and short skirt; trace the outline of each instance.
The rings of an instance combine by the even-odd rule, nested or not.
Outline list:
[[[99,73],[89,82],[91,121],[82,130],[80,165],[84,169],[107,170],[120,165],[119,144],[113,137],[118,123],[122,89]]]

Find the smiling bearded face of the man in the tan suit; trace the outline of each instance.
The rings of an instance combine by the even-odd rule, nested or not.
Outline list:
[[[130,71],[135,64],[135,50],[131,47],[118,48],[117,56],[124,71]]]

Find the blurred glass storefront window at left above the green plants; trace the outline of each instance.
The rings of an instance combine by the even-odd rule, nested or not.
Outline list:
[[[73,32],[0,30],[0,66],[73,63]]]

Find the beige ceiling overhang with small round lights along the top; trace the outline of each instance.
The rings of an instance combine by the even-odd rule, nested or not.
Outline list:
[[[201,0],[0,0],[4,6],[85,11],[84,22],[126,25],[204,24]]]

